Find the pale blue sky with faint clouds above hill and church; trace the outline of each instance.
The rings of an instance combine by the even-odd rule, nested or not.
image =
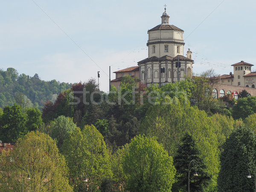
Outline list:
[[[148,57],[148,29],[169,23],[184,30],[184,56],[190,49],[193,73],[231,64],[256,65],[256,1],[252,0],[12,0],[0,1],[0,69],[44,81],[98,80],[108,92],[114,71]],[[252,67],[255,71],[256,67]]]

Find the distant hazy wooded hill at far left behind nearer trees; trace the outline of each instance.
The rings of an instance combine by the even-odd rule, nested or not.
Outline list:
[[[44,103],[55,100],[56,96],[71,87],[72,84],[54,80],[42,81],[38,74],[33,77],[18,74],[14,68],[0,69],[0,108],[15,103],[19,93],[24,94],[34,105],[41,109]]]

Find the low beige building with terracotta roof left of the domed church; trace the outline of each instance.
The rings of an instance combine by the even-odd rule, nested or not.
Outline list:
[[[121,84],[121,79],[123,76],[133,76],[137,79],[139,79],[140,77],[138,66],[128,67],[126,69],[115,71],[113,73],[116,73],[116,79],[111,80],[111,85],[114,85],[117,89]]]

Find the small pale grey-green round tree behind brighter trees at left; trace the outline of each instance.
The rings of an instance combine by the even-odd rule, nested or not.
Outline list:
[[[56,140],[58,148],[61,148],[67,134],[74,131],[75,128],[76,124],[73,123],[72,118],[61,115],[51,122],[50,136]]]

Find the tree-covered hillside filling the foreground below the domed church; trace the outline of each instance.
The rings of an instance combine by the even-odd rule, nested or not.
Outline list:
[[[191,192],[254,191],[247,164],[256,165],[256,97],[227,107],[212,97],[213,83],[146,87],[125,76],[109,93],[94,79],[73,84],[42,112],[16,100],[0,108],[0,140],[15,143],[0,153],[1,189],[19,191],[27,171],[24,189],[38,192],[180,192],[195,160]]]

